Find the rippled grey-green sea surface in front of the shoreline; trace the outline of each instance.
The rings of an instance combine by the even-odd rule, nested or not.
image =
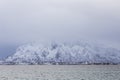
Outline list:
[[[120,65],[0,65],[0,80],[120,80]]]

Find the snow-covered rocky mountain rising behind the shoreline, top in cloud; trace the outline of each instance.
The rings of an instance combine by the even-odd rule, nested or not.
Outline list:
[[[30,43],[20,46],[5,61],[9,64],[117,64],[120,51],[87,42]]]

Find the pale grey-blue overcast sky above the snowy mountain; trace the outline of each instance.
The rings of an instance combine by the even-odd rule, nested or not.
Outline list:
[[[120,44],[120,0],[0,0],[0,44],[80,39]]]

